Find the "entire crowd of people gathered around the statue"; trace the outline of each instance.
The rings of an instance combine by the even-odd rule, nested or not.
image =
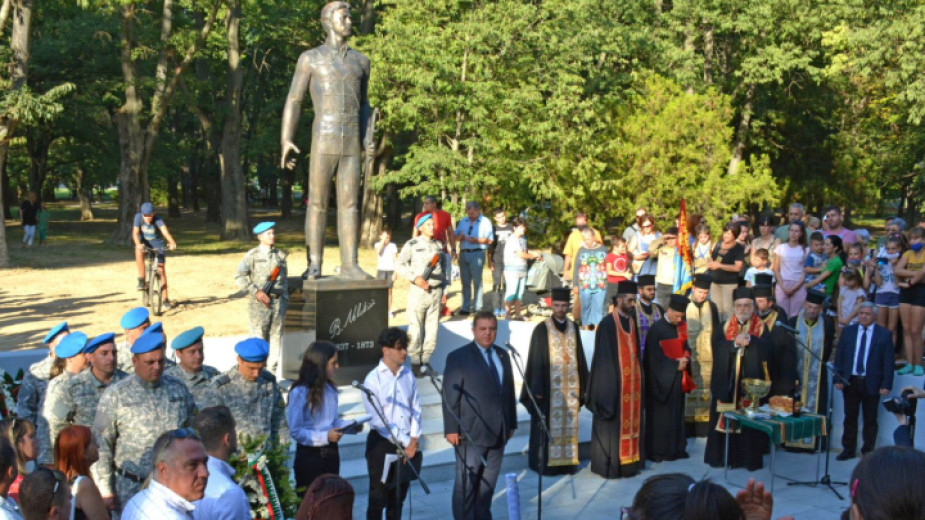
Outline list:
[[[158,234],[164,226],[152,208],[140,215],[139,243],[172,242]],[[748,221],[737,217],[715,236],[694,216],[685,234],[678,222],[659,231],[640,208],[607,248],[587,215],[579,214],[563,250],[562,276],[571,288],[551,291],[552,315],[533,329],[527,384],[517,396],[510,355],[495,345],[497,324],[499,318],[523,319],[523,278],[528,262],[543,253],[527,247],[522,218],[508,221],[502,210],[493,216],[494,224],[478,203],[469,202],[454,225],[436,199],[427,198],[411,240],[398,248],[385,233],[376,247],[379,277],[407,279],[411,289],[408,331],[382,331],[382,358],[359,385],[371,417],[367,518],[399,518],[416,478],[407,466],[421,467],[424,418],[417,385],[436,347],[454,259],[463,281],[457,314],[472,316],[473,337],[449,354],[442,380],[444,433],[456,453],[455,518],[491,517],[504,447],[517,428],[518,397],[531,414],[529,466],[543,474],[577,470],[582,406],[593,416],[590,469],[603,478],[637,475],[647,460],[687,458],[691,437],[706,438],[707,465],[756,470],[768,437],[724,422],[724,411],[747,404],[742,381],[763,379],[771,396],[790,396],[810,415],[823,416],[831,397],[828,360],[845,402],[839,460],[857,456],[863,417],[860,452],[866,457],[852,479],[849,514],[902,518],[882,516],[888,505],[871,495],[889,490],[868,482],[876,479],[879,464],[920,463],[906,451],[881,450],[885,454],[878,457],[874,449],[876,412],[892,391],[894,375],[925,375],[925,228],[906,230],[900,219],[890,219],[886,236],[875,244],[866,231],[844,228],[838,208],[827,209],[820,229],[810,231],[814,223],[794,204],[780,227],[763,216],[753,234]],[[249,314],[258,337],[235,346],[236,364],[224,373],[205,363],[202,327],[168,342],[163,324],[152,323],[144,308],[122,316],[121,341],[113,332],[91,338],[67,323],[48,332],[48,356],[29,368],[17,415],[2,423],[4,514],[18,518],[21,509],[29,520],[103,520],[111,512],[124,519],[249,518],[229,465],[239,435],[295,444],[296,488],[306,497],[300,518],[340,518],[330,511],[352,509],[353,492],[336,476],[338,445],[362,426],[338,414],[336,347],[324,341],[308,346],[287,399],[266,370],[273,362],[271,341],[278,343],[280,334],[273,323],[284,315],[288,297],[285,255],[275,248],[273,227],[255,228],[260,246],[245,256],[236,278],[253,296]],[[690,237],[689,291],[680,278],[682,236]],[[490,310],[484,310],[481,285],[485,263],[493,272]],[[282,280],[261,283],[272,277],[273,267],[281,268]],[[594,331],[590,364],[582,327]],[[168,359],[168,348],[175,361]],[[898,371],[897,350],[906,361]],[[812,431],[785,445],[818,449],[822,435]],[[389,466],[385,456],[396,448],[401,457]],[[760,486],[743,493],[733,498],[709,482],[661,475],[647,480],[623,514],[770,517],[772,500]]]

